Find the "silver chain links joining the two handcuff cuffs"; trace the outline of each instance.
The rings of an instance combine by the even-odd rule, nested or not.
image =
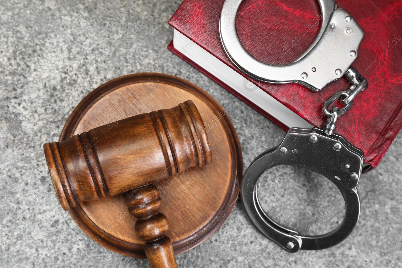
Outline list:
[[[324,133],[328,136],[334,134],[336,128],[336,121],[338,117],[345,114],[353,105],[353,99],[367,88],[367,79],[361,76],[359,71],[355,68],[351,67],[345,72],[345,77],[352,83],[351,86],[347,90],[338,91],[328,100],[322,104],[322,111],[328,117],[327,121],[324,123]],[[338,108],[336,106],[332,106],[330,110],[328,110],[328,106],[334,103],[337,99],[339,99],[341,104],[345,104],[342,108]]]

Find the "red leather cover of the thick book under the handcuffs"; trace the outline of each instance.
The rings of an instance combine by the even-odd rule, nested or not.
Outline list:
[[[184,0],[169,24],[241,74],[226,56],[219,39],[223,2]],[[347,10],[365,31],[353,67],[369,83],[355,98],[353,107],[338,119],[336,133],[363,150],[365,162],[375,167],[402,127],[402,1],[336,0],[336,4]],[[275,65],[289,63],[301,55],[316,37],[320,23],[316,0],[244,0],[236,19],[238,36],[245,49],[256,59]],[[171,44],[169,49],[175,50]],[[186,59],[184,55],[183,58]],[[196,63],[187,61],[214,78]],[[326,120],[321,115],[323,102],[336,91],[347,89],[345,78],[330,83],[320,92],[293,83],[268,84],[246,78],[316,127],[322,127]],[[216,79],[215,82],[239,95],[224,83]],[[279,121],[270,119],[283,127]]]

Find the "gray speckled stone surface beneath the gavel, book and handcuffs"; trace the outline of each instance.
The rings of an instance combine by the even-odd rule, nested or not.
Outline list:
[[[130,2],[12,0],[0,4],[1,27],[10,27],[0,33],[1,267],[149,267],[146,260],[93,244],[62,211],[49,185],[42,150],[43,143],[58,139],[78,102],[112,78],[165,72],[204,88],[231,117],[245,167],[285,134],[166,49],[173,35],[167,21],[179,0]],[[112,22],[121,10],[123,16]],[[99,33],[107,23],[115,25]],[[49,84],[50,89],[42,86],[49,76],[58,83],[54,92],[49,92]],[[402,145],[397,141],[378,168],[363,176],[360,220],[340,245],[286,255],[252,227],[238,202],[210,239],[177,256],[178,265],[402,267],[402,242],[390,246],[385,256],[380,254],[396,237],[402,238]],[[319,234],[342,220],[342,198],[337,199],[340,194],[328,180],[294,168],[275,168],[269,175],[271,179],[261,187],[263,206],[279,222],[303,230],[325,212],[311,230]]]

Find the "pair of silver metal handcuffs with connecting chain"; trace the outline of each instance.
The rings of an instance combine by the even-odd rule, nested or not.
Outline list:
[[[363,29],[333,0],[318,0],[322,25],[314,42],[287,65],[270,65],[252,57],[236,32],[236,14],[242,0],[225,0],[219,21],[219,35],[226,55],[244,74],[269,83],[297,83],[317,92],[343,75],[351,82],[345,91],[336,92],[322,106],[328,117],[323,129],[289,129],[282,143],[260,154],[246,170],[241,186],[246,214],[264,235],[288,252],[330,248],[349,236],[359,220],[360,200],[357,184],[363,167],[363,152],[334,134],[338,117],[353,105],[353,98],[367,88],[367,80],[351,64],[356,59],[364,36]],[[336,100],[344,106],[330,106]],[[345,200],[345,217],[333,231],[308,236],[275,223],[261,208],[258,179],[269,168],[293,165],[316,171],[330,179]]]

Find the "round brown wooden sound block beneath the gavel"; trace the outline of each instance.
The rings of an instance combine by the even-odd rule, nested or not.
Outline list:
[[[216,100],[198,86],[175,76],[130,74],[90,92],[73,110],[59,139],[64,141],[94,127],[168,109],[186,100],[193,100],[201,114],[212,163],[154,183],[162,198],[160,212],[169,221],[167,236],[172,240],[175,254],[196,247],[219,229],[239,194],[240,143],[232,122]],[[125,256],[146,258],[144,241],[134,232],[136,219],[128,213],[122,195],[82,202],[69,213],[82,231],[105,248]]]

